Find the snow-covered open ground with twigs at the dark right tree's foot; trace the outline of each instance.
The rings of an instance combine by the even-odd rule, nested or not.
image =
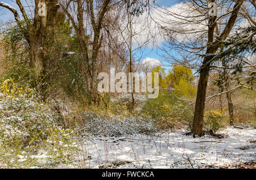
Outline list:
[[[256,130],[227,127],[218,133],[227,136],[193,138],[175,131],[159,136],[93,137],[84,142],[89,155],[81,155],[78,162],[84,168],[218,168],[256,161]]]

